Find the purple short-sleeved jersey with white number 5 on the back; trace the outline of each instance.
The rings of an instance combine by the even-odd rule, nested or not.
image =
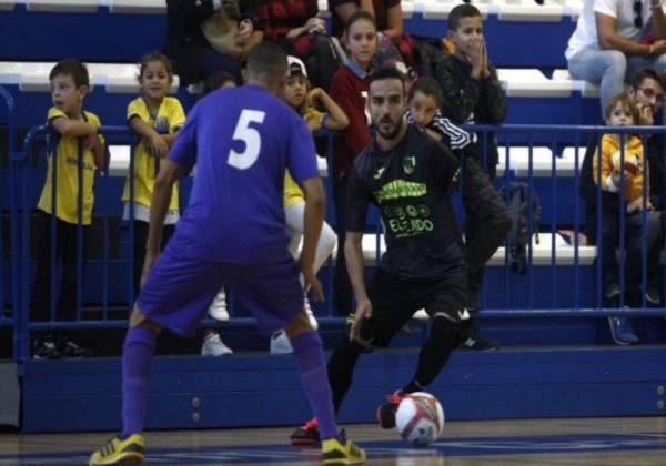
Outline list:
[[[284,170],[296,183],[317,176],[303,119],[256,85],[221,89],[188,115],[169,159],[189,172],[190,203],[171,240],[181,252],[212,261],[284,259]]]

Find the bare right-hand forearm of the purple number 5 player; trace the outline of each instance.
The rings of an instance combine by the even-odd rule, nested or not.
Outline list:
[[[299,265],[305,278],[305,288],[310,287],[315,301],[324,301],[322,284],[314,272],[314,256],[326,212],[326,194],[320,178],[309,178],[301,184],[301,189],[305,194],[305,212],[303,214],[303,247]]]

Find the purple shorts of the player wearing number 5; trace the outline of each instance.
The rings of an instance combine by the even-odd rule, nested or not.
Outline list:
[[[272,264],[238,264],[190,257],[170,241],[148,276],[137,306],[151,321],[179,335],[194,334],[213,298],[229,285],[271,334],[303,308],[299,267],[289,252]]]

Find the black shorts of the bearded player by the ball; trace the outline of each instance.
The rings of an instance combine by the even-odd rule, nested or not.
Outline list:
[[[465,301],[464,273],[427,281],[412,281],[377,269],[372,276],[367,295],[372,303],[372,317],[364,320],[361,338],[372,346],[389,346],[395,335],[420,308],[431,317],[444,313],[460,322]]]

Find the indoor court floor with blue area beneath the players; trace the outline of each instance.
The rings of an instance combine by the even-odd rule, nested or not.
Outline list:
[[[412,448],[395,430],[345,426],[367,465],[666,465],[666,418],[448,422],[440,439]],[[287,444],[290,427],[149,432],[148,465],[317,465],[317,448]],[[87,465],[112,434],[0,434],[0,466]]]

